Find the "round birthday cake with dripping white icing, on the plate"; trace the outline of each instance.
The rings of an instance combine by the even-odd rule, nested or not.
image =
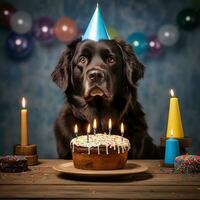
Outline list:
[[[86,170],[122,169],[130,149],[128,139],[106,133],[76,137],[70,146],[74,167]]]

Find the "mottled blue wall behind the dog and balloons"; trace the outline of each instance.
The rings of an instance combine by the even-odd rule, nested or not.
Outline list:
[[[94,0],[15,0],[18,10],[31,13],[33,19],[69,16],[84,30],[96,7]],[[190,0],[103,0],[99,1],[105,22],[114,26],[122,37],[135,31],[156,33],[164,24],[175,23],[177,13],[191,7]],[[47,47],[35,42],[33,54],[26,60],[14,61],[5,52],[8,30],[0,30],[0,154],[12,152],[20,142],[20,101],[28,99],[29,141],[38,145],[41,158],[56,157],[53,123],[63,105],[61,91],[52,83],[50,74],[65,48],[56,41]],[[200,153],[200,28],[180,32],[179,43],[166,48],[158,58],[140,58],[146,66],[139,84],[139,98],[144,106],[149,133],[159,144],[165,135],[169,88],[180,98],[185,135],[192,137],[191,153]]]

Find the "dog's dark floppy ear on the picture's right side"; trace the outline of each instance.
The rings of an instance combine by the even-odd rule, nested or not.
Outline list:
[[[138,61],[130,44],[119,38],[115,41],[122,52],[128,82],[134,86],[139,79],[144,77],[144,65]]]

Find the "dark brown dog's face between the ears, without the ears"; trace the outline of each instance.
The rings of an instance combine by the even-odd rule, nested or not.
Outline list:
[[[111,101],[122,83],[123,58],[116,42],[84,41],[72,58],[72,83],[75,91],[91,101],[96,97]]]

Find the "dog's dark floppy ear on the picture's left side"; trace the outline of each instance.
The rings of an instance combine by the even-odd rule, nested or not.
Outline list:
[[[71,74],[71,60],[79,41],[80,39],[73,41],[67,46],[67,48],[62,53],[58,64],[51,74],[53,82],[55,82],[58,87],[61,88],[63,91],[66,91],[69,85]]]

